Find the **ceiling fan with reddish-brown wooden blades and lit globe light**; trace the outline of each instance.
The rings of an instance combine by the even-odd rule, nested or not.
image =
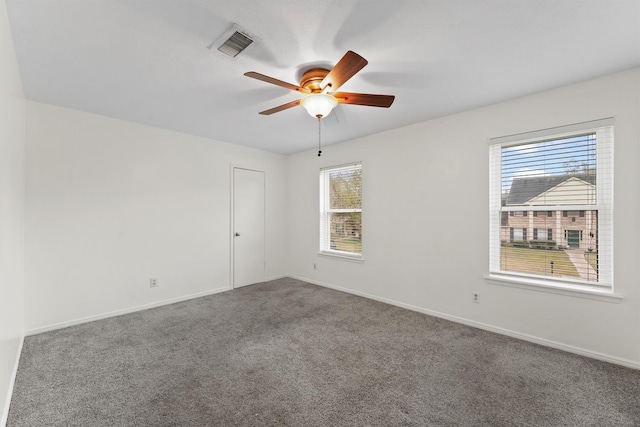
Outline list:
[[[369,107],[389,108],[395,99],[393,95],[372,95],[367,93],[337,92],[347,80],[364,68],[368,61],[353,51],[348,51],[333,69],[310,68],[300,79],[300,86],[249,71],[245,76],[271,83],[285,89],[305,94],[301,99],[287,102],[259,114],[270,115],[302,105],[305,110],[318,119],[326,117],[338,104],[366,105]]]

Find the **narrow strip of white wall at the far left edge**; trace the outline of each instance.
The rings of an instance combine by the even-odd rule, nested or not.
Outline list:
[[[0,425],[23,336],[24,96],[5,2],[0,2]]]

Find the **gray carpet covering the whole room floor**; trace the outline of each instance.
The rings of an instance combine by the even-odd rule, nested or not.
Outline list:
[[[282,279],[27,337],[8,426],[638,426],[640,371]]]

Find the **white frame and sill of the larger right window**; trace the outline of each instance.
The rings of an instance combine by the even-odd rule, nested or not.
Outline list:
[[[614,149],[614,118],[577,123],[568,126],[543,129],[539,131],[514,134],[505,137],[489,139],[489,245],[490,261],[489,273],[485,276],[488,281],[501,285],[515,285],[517,287],[551,290],[556,293],[572,294],[574,292],[591,295],[613,296],[613,149]],[[596,210],[598,211],[598,282],[586,282],[567,278],[557,278],[544,275],[520,273],[501,270],[500,244],[501,221],[503,212],[521,210],[521,206],[502,206],[502,149],[520,144],[535,143],[541,140],[565,139],[585,133],[596,134],[596,203],[594,205],[544,205],[530,206],[533,211],[569,211]],[[604,166],[603,166],[604,165]],[[540,215],[540,214],[538,214]],[[600,219],[606,217],[606,221]],[[497,219],[497,220],[496,220]],[[620,298],[615,296],[613,299]],[[607,298],[604,298],[607,300]],[[619,302],[619,301],[618,301]]]

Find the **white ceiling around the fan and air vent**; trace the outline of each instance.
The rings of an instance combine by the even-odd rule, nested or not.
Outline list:
[[[347,50],[369,61],[341,90],[323,144],[640,66],[640,0],[6,0],[28,99],[260,148],[317,146],[291,83]],[[207,47],[236,23],[257,40]]]

